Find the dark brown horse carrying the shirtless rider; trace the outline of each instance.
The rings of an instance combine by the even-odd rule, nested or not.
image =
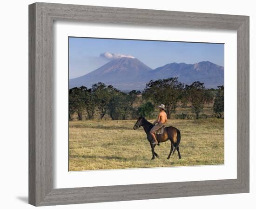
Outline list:
[[[154,125],[151,124],[150,122],[148,122],[145,118],[143,118],[141,116],[135,123],[133,129],[137,130],[141,126],[143,127],[145,133],[147,134],[148,142],[151,146],[151,150],[152,150],[151,160],[154,160],[155,157],[159,157],[158,154],[155,152],[155,144],[152,144],[154,139],[151,136],[151,134],[149,133]],[[182,158],[180,149],[179,149],[179,144],[181,142],[181,132],[178,129],[176,129],[175,127],[172,127],[172,126],[165,127],[162,135],[156,134],[156,139],[157,139],[158,143],[166,142],[168,140],[171,141],[171,151],[170,151],[170,154],[168,155],[167,159],[169,159],[171,157],[171,155],[173,155],[175,150],[178,151],[179,159]]]

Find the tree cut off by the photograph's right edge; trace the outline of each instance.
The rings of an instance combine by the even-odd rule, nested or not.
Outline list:
[[[213,111],[217,118],[222,118],[224,114],[224,86],[218,86],[216,97],[214,99]]]

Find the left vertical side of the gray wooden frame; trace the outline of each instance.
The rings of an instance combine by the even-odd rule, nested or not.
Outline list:
[[[29,203],[38,205],[53,188],[53,22],[40,4],[31,5],[29,15]]]

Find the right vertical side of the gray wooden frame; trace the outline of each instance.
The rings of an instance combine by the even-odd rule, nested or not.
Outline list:
[[[237,29],[237,178],[249,191],[249,18]]]

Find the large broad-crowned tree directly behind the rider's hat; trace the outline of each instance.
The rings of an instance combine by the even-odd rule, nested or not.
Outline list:
[[[182,99],[183,88],[184,85],[178,78],[151,80],[146,84],[142,96],[154,104],[164,104],[167,117],[170,118],[171,112],[176,111],[177,104]]]

